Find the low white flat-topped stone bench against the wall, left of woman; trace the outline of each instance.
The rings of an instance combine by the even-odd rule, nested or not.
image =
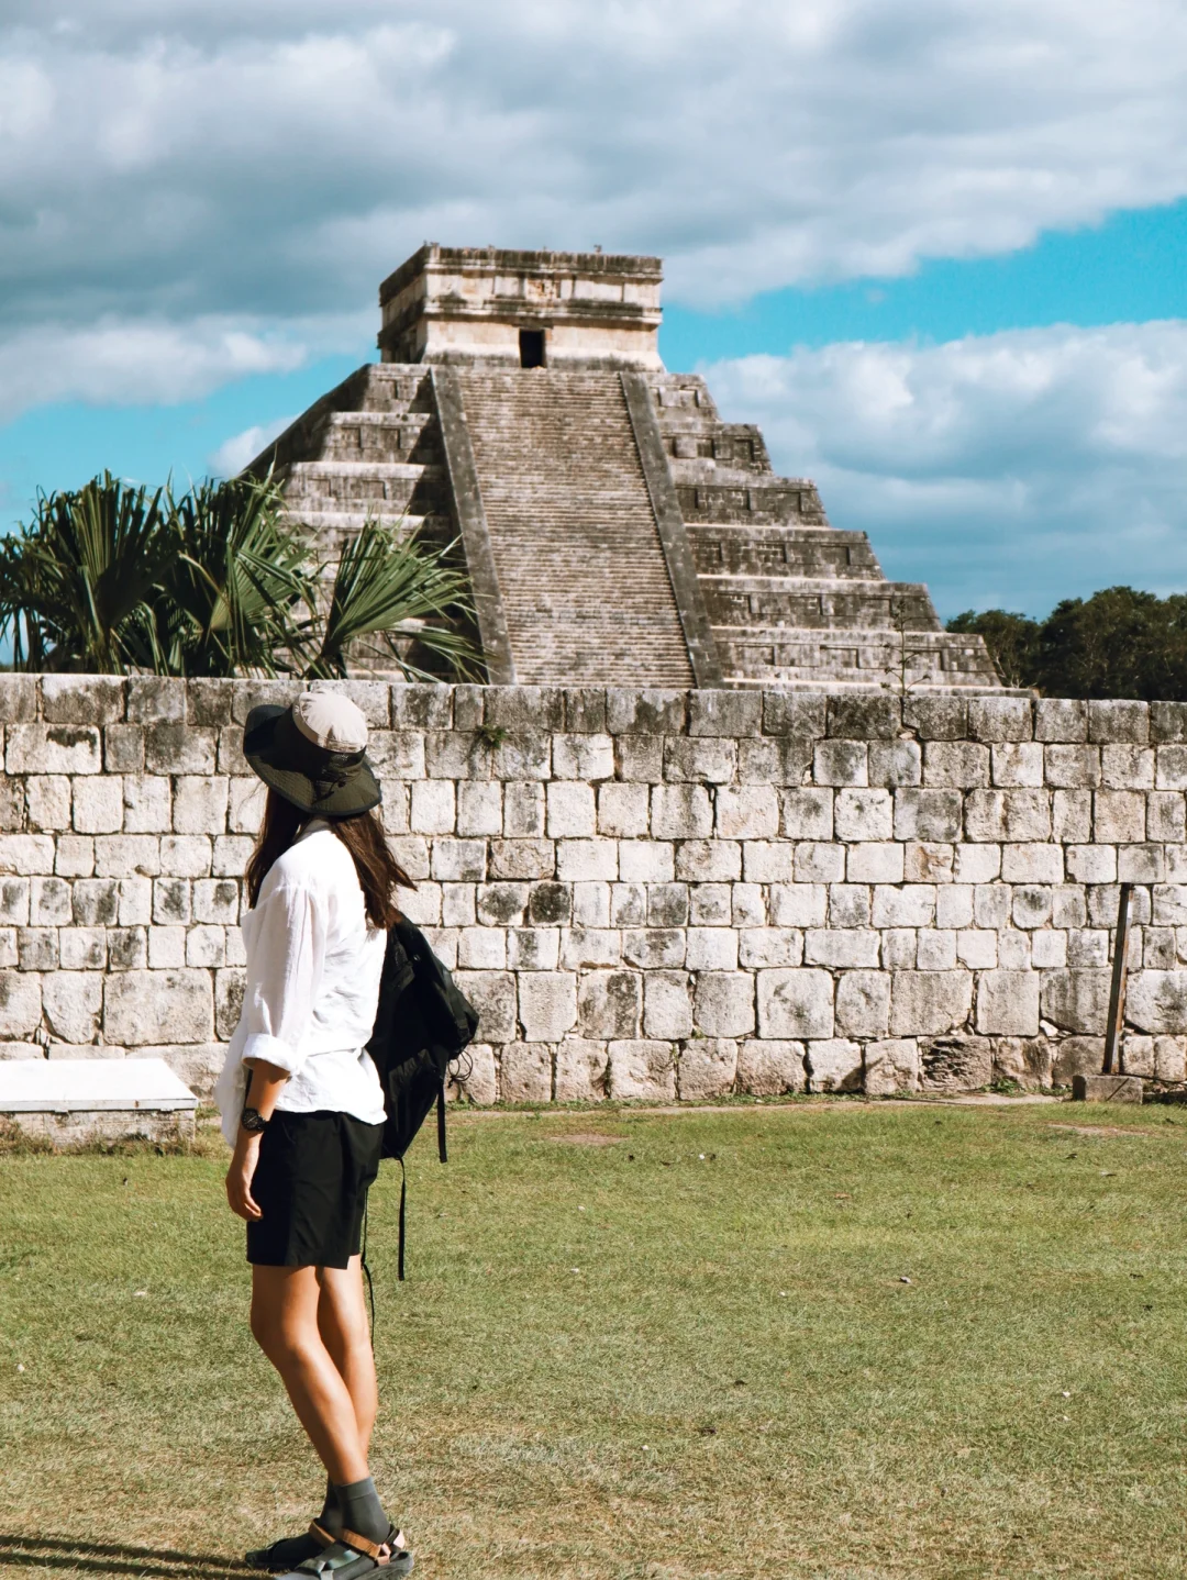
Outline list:
[[[163,1059],[0,1060],[0,1115],[62,1141],[193,1133],[198,1098]]]

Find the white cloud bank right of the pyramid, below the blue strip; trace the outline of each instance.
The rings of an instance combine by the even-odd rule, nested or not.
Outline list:
[[[947,615],[1187,589],[1187,321],[944,346],[833,344],[703,370],[778,469],[820,485]]]

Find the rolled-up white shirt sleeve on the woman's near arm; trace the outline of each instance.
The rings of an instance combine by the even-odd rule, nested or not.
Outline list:
[[[243,992],[243,1062],[262,1059],[294,1076],[326,964],[326,915],[307,885],[278,883],[261,894],[259,932]]]

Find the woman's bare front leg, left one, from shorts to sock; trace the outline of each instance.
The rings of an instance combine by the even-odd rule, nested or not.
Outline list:
[[[256,1343],[280,1373],[330,1480],[346,1485],[367,1479],[367,1446],[351,1392],[319,1332],[319,1304],[318,1269],[251,1269]]]

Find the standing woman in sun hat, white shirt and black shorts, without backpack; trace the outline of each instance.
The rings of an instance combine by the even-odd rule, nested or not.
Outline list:
[[[333,1580],[413,1567],[367,1465],[376,1379],[360,1237],[384,1100],[365,1044],[395,890],[413,885],[384,839],[365,749],[360,709],[333,692],[248,716],[243,755],[269,793],[247,869],[243,1013],[217,1089],[251,1332],[327,1477],[308,1533],[247,1558]]]

